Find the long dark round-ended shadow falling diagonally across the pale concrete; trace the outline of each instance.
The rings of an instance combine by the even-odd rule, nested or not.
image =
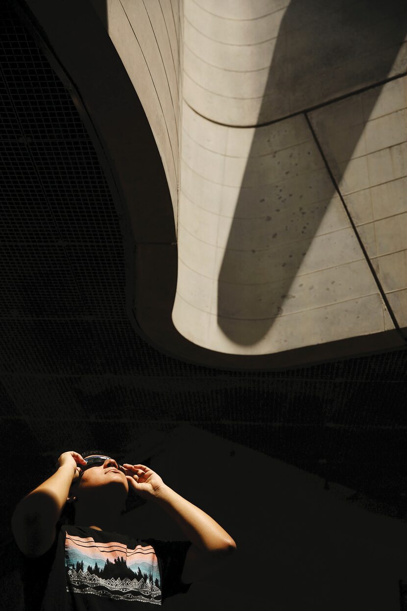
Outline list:
[[[292,0],[258,123],[383,82],[406,31],[401,0]],[[380,92],[372,90],[351,130],[344,167]],[[218,277],[218,325],[234,342],[261,340],[295,298],[290,287],[334,194],[304,114],[256,130]]]

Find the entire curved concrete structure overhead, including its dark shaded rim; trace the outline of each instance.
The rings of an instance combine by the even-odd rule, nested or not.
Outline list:
[[[87,2],[27,4],[69,66],[129,214],[129,299],[145,337],[229,368],[405,345],[403,2],[93,0],[95,27]],[[68,31],[84,13],[103,46],[82,53],[85,67]],[[113,70],[98,76],[99,97],[87,82],[92,62],[115,61],[101,23],[161,168],[134,120],[126,133],[124,81],[112,90]]]

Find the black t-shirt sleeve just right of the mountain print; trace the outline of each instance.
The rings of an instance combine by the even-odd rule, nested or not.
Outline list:
[[[161,565],[162,573],[162,601],[176,594],[185,594],[191,584],[181,581],[184,569],[185,557],[191,546],[191,541],[162,541],[157,539],[147,540],[155,551]]]

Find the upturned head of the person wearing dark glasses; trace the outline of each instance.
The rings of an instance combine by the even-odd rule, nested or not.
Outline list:
[[[87,466],[70,487],[67,503],[75,507],[74,524],[113,530],[125,510],[129,483],[125,469],[101,452],[84,452]]]

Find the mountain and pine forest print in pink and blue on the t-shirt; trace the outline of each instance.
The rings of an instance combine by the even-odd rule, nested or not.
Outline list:
[[[101,543],[67,533],[67,591],[86,596],[161,604],[160,573],[151,545],[130,549],[124,543]]]

